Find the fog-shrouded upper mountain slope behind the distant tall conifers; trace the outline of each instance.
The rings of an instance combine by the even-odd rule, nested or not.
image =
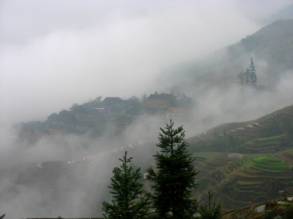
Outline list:
[[[165,74],[177,79],[176,74],[188,77],[173,89],[197,86],[202,83],[219,85],[226,89],[236,84],[237,73],[245,71],[253,56],[259,81],[274,85],[279,77],[293,69],[293,19],[278,20],[236,44],[226,46],[205,58],[178,64],[166,69]],[[172,73],[173,72],[173,73]],[[225,86],[222,86],[222,85]]]

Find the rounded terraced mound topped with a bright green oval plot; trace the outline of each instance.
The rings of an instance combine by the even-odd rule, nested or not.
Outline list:
[[[293,160],[280,159],[273,154],[263,156],[230,161],[206,175],[207,178],[219,178],[213,181],[217,182],[214,198],[220,199],[224,208],[273,199],[277,193],[272,191],[272,187],[276,191],[292,188]]]

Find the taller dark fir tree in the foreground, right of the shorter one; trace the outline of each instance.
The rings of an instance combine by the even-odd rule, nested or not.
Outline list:
[[[153,182],[151,200],[155,208],[156,218],[192,218],[197,208],[197,201],[190,199],[191,189],[195,188],[195,171],[192,162],[195,159],[188,154],[189,146],[184,140],[182,126],[173,128],[173,122],[166,124],[165,130],[160,128],[161,150],[154,155],[156,171],[147,169],[147,180]]]

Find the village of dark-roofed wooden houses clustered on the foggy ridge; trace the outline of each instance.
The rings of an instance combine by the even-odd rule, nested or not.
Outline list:
[[[94,128],[112,125],[115,130],[127,128],[144,114],[160,114],[162,117],[186,116],[194,101],[183,95],[179,100],[173,94],[151,94],[142,100],[106,97],[82,105],[73,104],[69,110],[53,113],[44,122],[21,122],[12,127],[18,139],[40,139],[45,136],[61,137],[67,134],[83,134]]]

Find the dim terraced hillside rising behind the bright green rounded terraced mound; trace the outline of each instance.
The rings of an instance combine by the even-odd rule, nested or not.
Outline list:
[[[192,152],[272,153],[293,146],[293,105],[254,121],[226,123],[187,141]]]

